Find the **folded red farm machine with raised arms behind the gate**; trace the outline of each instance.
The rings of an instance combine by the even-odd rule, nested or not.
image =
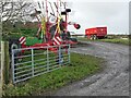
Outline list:
[[[32,17],[37,19],[38,30],[36,36],[32,38],[22,36],[19,39],[11,39],[10,52],[12,49],[17,48],[73,45],[78,42],[70,37],[68,25],[73,25],[76,29],[80,28],[80,25],[74,22],[68,22],[71,9],[67,9],[67,2],[62,2],[61,0],[49,2],[45,0],[37,2],[37,5],[40,11],[34,9],[34,12],[31,14]],[[61,10],[61,8],[63,9]],[[50,17],[53,17],[55,21],[51,22]],[[49,50],[56,52],[57,48],[49,48]]]

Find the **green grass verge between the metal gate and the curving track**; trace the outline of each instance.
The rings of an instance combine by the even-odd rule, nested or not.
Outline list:
[[[33,77],[16,85],[5,85],[3,96],[31,96],[40,95],[47,90],[58,89],[69,83],[82,79],[102,70],[103,59],[71,53],[70,65],[62,66],[50,73]]]

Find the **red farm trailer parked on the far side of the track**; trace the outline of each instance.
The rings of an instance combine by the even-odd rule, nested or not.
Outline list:
[[[107,27],[93,27],[85,29],[88,39],[104,38],[107,35]]]

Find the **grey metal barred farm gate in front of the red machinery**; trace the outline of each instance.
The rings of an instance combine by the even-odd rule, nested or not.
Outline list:
[[[57,48],[52,52],[49,48]],[[63,48],[64,47],[64,48]],[[19,56],[24,51],[24,54]],[[20,61],[21,60],[21,61]],[[12,77],[13,83],[19,83],[40,74],[60,69],[70,63],[70,45],[22,48],[12,50]]]

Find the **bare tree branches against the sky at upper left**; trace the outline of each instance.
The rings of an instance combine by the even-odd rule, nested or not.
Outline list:
[[[35,9],[33,2],[16,0],[15,2],[2,1],[0,10],[2,12],[2,22],[8,21],[31,21],[31,12]]]

